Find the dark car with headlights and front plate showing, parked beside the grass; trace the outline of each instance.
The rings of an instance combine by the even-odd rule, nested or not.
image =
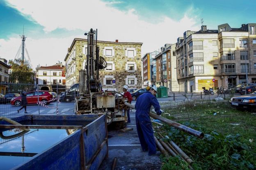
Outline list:
[[[256,93],[242,95],[239,97],[231,97],[229,103],[236,109],[256,109]]]

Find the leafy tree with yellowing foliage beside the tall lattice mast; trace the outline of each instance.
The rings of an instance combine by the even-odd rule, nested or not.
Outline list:
[[[9,65],[12,69],[9,82],[34,84],[34,72],[28,61],[22,61],[22,59],[9,60]]]

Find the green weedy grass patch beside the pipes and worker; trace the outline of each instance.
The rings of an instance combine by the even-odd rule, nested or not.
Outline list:
[[[162,116],[205,134],[198,139],[169,125],[159,128],[193,159],[194,169],[256,168],[256,114],[238,111],[227,101],[185,102],[165,108]],[[186,163],[163,158],[163,170],[187,169]]]

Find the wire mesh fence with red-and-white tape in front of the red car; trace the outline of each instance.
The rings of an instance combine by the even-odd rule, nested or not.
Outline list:
[[[61,92],[65,94],[66,89],[70,88],[68,86],[58,88],[56,85],[50,90],[43,90],[42,85],[4,83],[0,87],[3,89],[0,95],[0,116],[12,118],[24,114],[74,113],[74,102],[58,102]],[[23,92],[26,92],[26,102],[22,100]]]

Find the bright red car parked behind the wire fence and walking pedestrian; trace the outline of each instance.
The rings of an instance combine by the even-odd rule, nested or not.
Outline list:
[[[37,91],[27,92],[27,105],[37,104]],[[49,100],[53,99],[53,95],[48,91],[39,91],[39,101],[43,104],[49,104]],[[11,105],[20,106],[21,96],[11,99]]]

